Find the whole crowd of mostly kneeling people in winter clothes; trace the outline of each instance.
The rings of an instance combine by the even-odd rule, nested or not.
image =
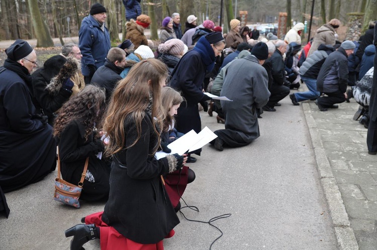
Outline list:
[[[191,130],[199,133],[200,110],[216,112],[225,124],[214,132],[215,149],[248,145],[260,136],[263,111],[275,112],[287,95],[296,106],[313,100],[321,111],[354,96],[362,106],[355,116],[363,115],[360,121],[369,127],[369,154],[377,153],[374,22],[360,41],[340,42],[340,22],[333,19],[302,49],[302,23],[278,39],[260,37],[256,27],[241,27],[237,19],[222,34],[211,20],[198,25],[195,15],[182,31],[179,13],[173,13],[163,18],[155,47],[144,35],[151,19],[141,13],[140,1],[123,2],[127,36],[118,47],[111,48],[107,11],[96,3],[82,20],[78,44],[65,44],[35,72],[37,54],[26,41],[6,50],[0,208],[7,216],[3,192],[40,181],[59,158],[64,180],[75,184],[84,174],[80,199],[107,202],[104,211],[65,231],[73,236],[71,249],[96,238],[102,249],[163,249],[162,240],[179,223],[179,199],[196,178],[185,164],[195,163],[201,149],[161,159],[155,153],[170,153],[169,143]],[[349,79],[350,72],[357,80]],[[292,92],[300,83],[309,91]],[[212,100],[205,92],[233,101]]]

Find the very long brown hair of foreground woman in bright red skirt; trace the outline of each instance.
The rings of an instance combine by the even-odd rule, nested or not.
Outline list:
[[[124,121],[128,115],[135,120],[138,137],[131,146],[135,145],[141,136],[141,122],[145,116],[150,98],[152,101],[153,129],[160,138],[159,128],[165,118],[161,104],[160,81],[166,80],[167,67],[161,61],[150,58],[135,64],[127,77],[119,81],[111,97],[105,115],[104,131],[110,137],[106,149],[108,156],[120,152],[125,146]],[[131,147],[130,146],[130,147]],[[157,146],[155,151],[157,150]]]

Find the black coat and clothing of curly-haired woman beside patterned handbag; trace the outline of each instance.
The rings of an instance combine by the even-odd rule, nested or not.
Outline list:
[[[97,158],[105,147],[101,139],[95,139],[95,133],[85,136],[82,121],[71,121],[59,138],[59,156],[61,174],[64,180],[77,185],[84,169],[85,159],[89,157],[87,171],[80,199],[87,201],[107,200],[109,196],[110,166],[104,158]]]

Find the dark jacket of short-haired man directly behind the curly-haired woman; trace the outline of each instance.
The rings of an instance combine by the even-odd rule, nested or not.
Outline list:
[[[106,60],[105,65],[96,70],[96,73],[91,78],[91,84],[105,88],[106,103],[109,103],[117,82],[122,80],[122,77],[120,76],[122,71],[122,68],[117,67],[115,64]]]

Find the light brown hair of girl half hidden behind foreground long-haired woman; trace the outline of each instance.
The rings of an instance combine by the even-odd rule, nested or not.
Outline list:
[[[169,115],[172,106],[178,105],[183,102],[183,97],[179,92],[171,87],[164,87],[161,90],[162,106],[165,110],[165,119],[163,121],[163,132],[168,131],[169,125],[173,123],[174,116]]]

